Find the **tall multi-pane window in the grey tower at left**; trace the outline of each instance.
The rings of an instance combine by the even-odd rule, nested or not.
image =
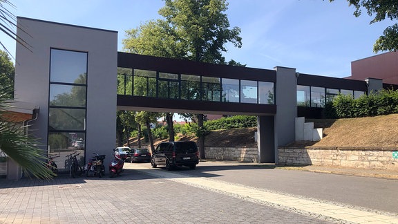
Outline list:
[[[61,160],[71,151],[79,151],[84,163],[87,57],[84,52],[51,49],[48,153],[58,153]],[[58,165],[58,169],[66,171],[66,166]]]

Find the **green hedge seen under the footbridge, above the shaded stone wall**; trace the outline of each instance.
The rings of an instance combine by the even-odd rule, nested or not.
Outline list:
[[[209,120],[204,125],[210,131],[219,129],[236,129],[257,126],[256,116],[236,115],[218,120]]]

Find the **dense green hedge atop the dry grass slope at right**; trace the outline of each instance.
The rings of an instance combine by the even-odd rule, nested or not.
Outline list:
[[[332,105],[326,104],[327,118],[362,118],[398,113],[398,91],[381,90],[353,99],[350,95],[337,95]]]

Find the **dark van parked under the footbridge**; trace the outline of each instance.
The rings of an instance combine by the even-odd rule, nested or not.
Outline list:
[[[166,166],[167,170],[178,166],[195,169],[199,163],[198,147],[195,142],[162,142],[152,153],[151,165]]]

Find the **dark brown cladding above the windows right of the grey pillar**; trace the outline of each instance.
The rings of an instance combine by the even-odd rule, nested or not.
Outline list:
[[[297,84],[302,86],[339,88],[364,92],[368,91],[368,86],[365,81],[348,80],[337,77],[325,77],[318,75],[300,74],[297,78]]]

